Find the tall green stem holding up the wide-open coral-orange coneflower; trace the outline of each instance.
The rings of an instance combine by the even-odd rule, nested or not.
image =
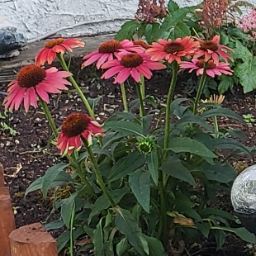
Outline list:
[[[170,83],[170,88],[168,90],[167,102],[166,102],[166,110],[165,110],[165,132],[164,132],[164,151],[168,148],[168,140],[169,140],[169,132],[170,132],[170,106],[173,101],[173,92],[176,85],[177,77],[178,77],[178,64],[177,62],[173,62],[172,65],[173,73],[172,80]],[[166,152],[164,153],[166,157]]]

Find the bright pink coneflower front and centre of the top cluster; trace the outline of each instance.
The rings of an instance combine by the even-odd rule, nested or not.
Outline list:
[[[111,78],[118,73],[114,83],[124,83],[130,75],[139,83],[140,74],[149,79],[151,70],[166,69],[164,64],[150,60],[150,55],[146,53],[120,53],[117,58],[102,64],[102,69],[110,68],[102,74],[102,78]]]

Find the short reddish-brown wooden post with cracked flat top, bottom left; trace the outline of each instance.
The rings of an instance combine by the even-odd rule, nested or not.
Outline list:
[[[57,242],[40,223],[24,225],[10,234],[12,256],[57,256]]]

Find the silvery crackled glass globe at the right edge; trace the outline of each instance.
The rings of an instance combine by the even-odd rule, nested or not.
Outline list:
[[[256,213],[256,164],[246,168],[235,178],[231,201],[235,211],[239,213]]]

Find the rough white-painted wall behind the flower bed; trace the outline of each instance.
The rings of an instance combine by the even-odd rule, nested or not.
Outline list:
[[[28,39],[59,31],[61,35],[82,36],[117,31],[133,18],[139,0],[0,0],[0,16],[7,17]],[[166,1],[168,2],[168,1]],[[200,0],[177,0],[183,7]],[[256,3],[255,1],[248,1]],[[111,21],[114,20],[114,21]],[[77,24],[87,22],[83,26]],[[73,27],[65,29],[65,27]]]

